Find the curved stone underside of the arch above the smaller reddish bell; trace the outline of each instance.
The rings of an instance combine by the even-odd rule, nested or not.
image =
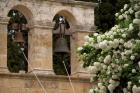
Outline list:
[[[27,23],[29,25],[33,24],[33,13],[31,12],[31,10],[27,6],[24,6],[21,4],[15,5],[12,8],[10,8],[9,11],[12,9],[18,10],[19,12],[21,12],[25,16],[25,18],[27,19],[27,21],[28,21]]]

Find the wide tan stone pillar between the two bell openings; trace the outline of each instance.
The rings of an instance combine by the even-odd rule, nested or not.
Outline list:
[[[29,31],[28,38],[29,72],[54,74],[52,62],[52,26],[34,25]]]

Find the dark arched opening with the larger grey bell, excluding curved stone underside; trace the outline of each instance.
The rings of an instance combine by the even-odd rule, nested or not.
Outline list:
[[[60,23],[61,19],[64,19],[64,23],[62,24]],[[56,75],[67,75],[66,71],[68,71],[68,74],[70,75],[71,74],[71,62],[70,62],[71,48],[70,48],[70,32],[68,30],[70,29],[70,25],[67,19],[60,14],[56,14],[55,17],[53,18],[53,21],[55,22],[55,26],[53,29],[53,69]],[[62,40],[61,42],[60,38],[61,39],[63,38],[64,41]],[[60,41],[60,43],[58,41]],[[55,52],[56,50],[58,51],[60,50],[59,53],[58,52],[56,53]],[[69,52],[64,53],[63,51],[69,51]]]

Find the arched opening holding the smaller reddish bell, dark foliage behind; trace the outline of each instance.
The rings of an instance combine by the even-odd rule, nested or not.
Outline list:
[[[28,71],[28,31],[27,19],[16,9],[8,13],[7,29],[7,66],[10,72]],[[25,54],[25,56],[24,56]]]

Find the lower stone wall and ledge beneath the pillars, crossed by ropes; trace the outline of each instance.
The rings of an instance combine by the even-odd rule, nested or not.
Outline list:
[[[46,93],[74,93],[68,77],[37,75]],[[89,79],[71,77],[75,93],[88,93]],[[33,74],[0,73],[0,93],[45,93]]]

